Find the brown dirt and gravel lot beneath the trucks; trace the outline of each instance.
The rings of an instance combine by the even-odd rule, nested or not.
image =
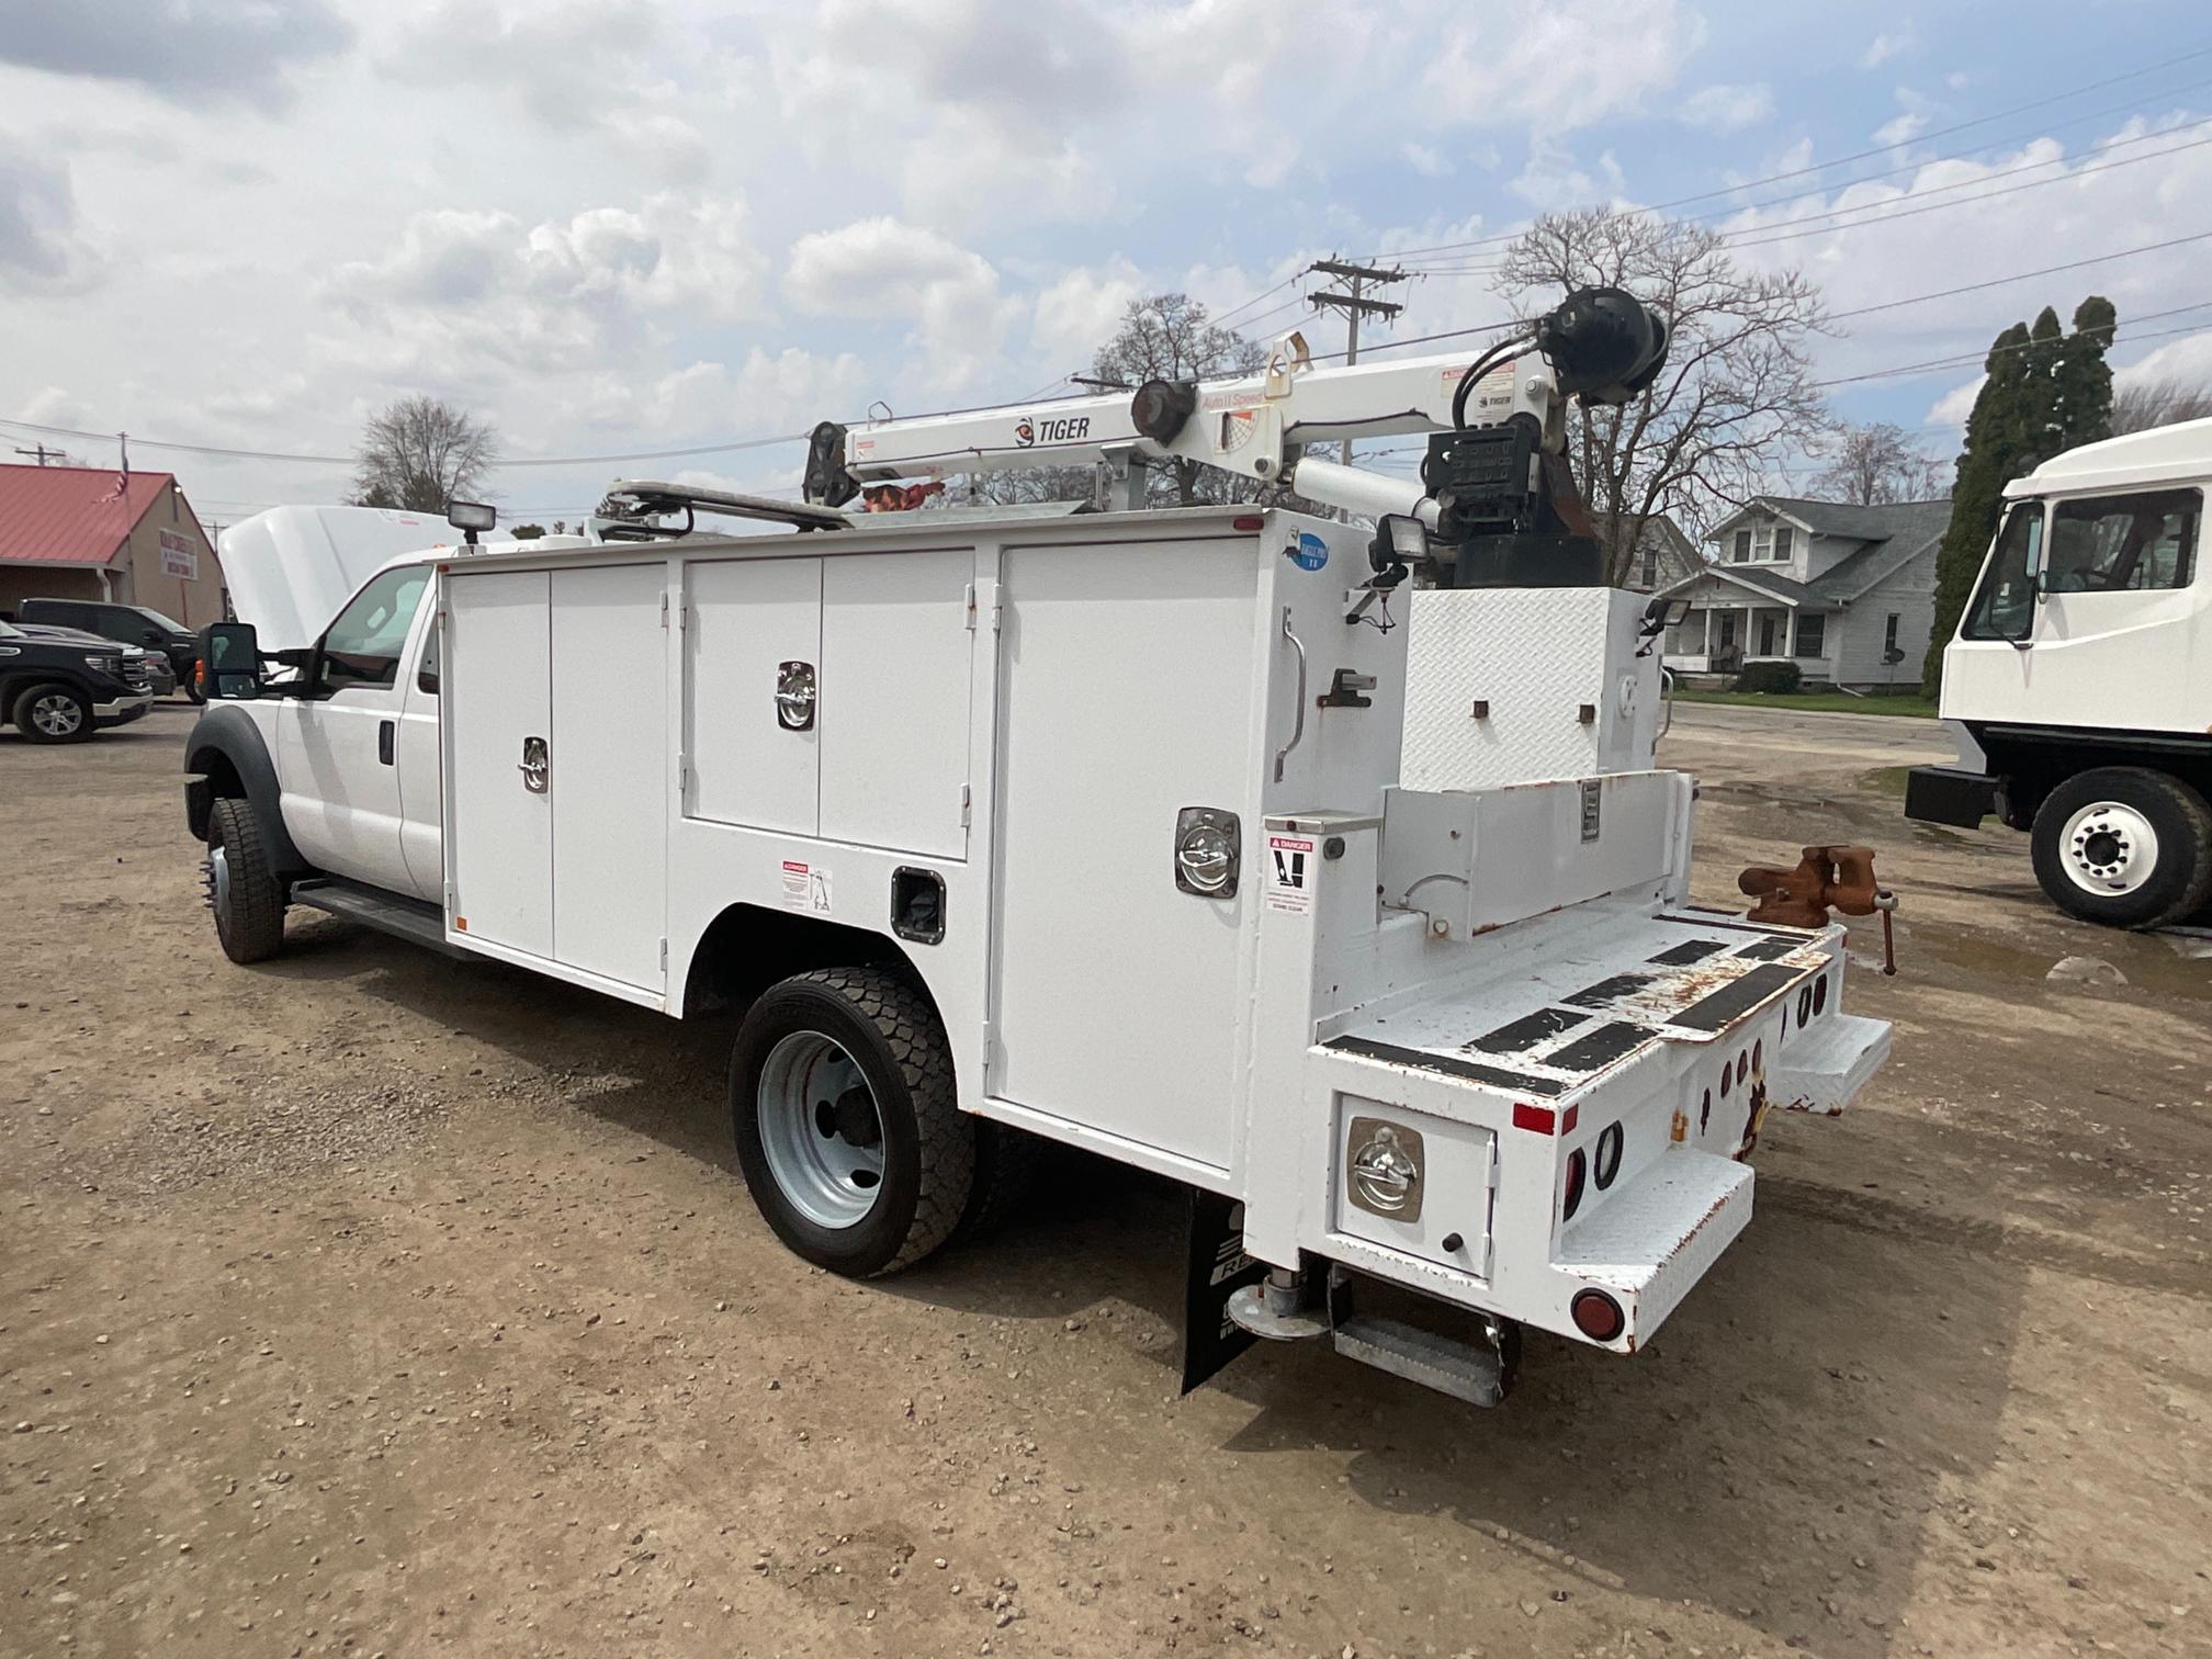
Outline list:
[[[4,1655],[2212,1652],[2212,960],[1907,827],[1933,726],[1679,714],[1703,898],[1885,849],[1896,1060],[1652,1352],[1491,1413],[1305,1347],[1177,1400],[1175,1194],[1093,1164],[807,1270],[726,1029],[303,914],[232,969],[184,726],[0,734]]]

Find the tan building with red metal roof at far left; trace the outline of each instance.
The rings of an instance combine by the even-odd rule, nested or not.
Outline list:
[[[223,617],[223,571],[173,473],[0,467],[0,611],[113,599],[186,628]]]

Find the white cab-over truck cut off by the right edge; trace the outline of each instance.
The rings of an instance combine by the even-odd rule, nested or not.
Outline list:
[[[2163,927],[2212,902],[2212,420],[2081,445],[2004,487],[1944,646],[1958,765],[1916,768],[1905,814],[2026,830],[2073,916]]]

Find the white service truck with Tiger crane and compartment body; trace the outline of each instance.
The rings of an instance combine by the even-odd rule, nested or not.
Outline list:
[[[982,1219],[1024,1137],[1170,1177],[1186,1387],[1252,1336],[1482,1405],[1522,1323],[1632,1352],[1750,1219],[1770,1108],[1840,1110],[1889,1029],[1843,1011],[1840,927],[1686,905],[1657,628],[1542,584],[1588,551],[1546,484],[1559,385],[1604,396],[1621,356],[1548,321],[1489,378],[1292,341],[1248,383],[825,427],[812,504],[626,484],[580,544],[372,560],[312,637],[217,626],[186,768],[223,949],[270,956],[310,905],[675,1018],[743,1006],[754,1203],[845,1274]],[[1478,389],[1498,418],[1460,425]],[[1425,482],[1301,458],[1378,427],[1438,434]],[[1194,445],[1383,520],[841,511],[949,440],[958,471]],[[699,533],[701,507],[787,533]],[[334,584],[352,522],[234,529],[241,613]],[[1405,604],[1413,566],[1493,584]],[[1409,710],[1473,730],[1425,787]],[[1436,1318],[1360,1307],[1374,1283]]]

